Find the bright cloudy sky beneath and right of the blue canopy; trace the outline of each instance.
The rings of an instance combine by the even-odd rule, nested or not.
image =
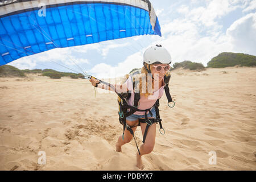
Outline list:
[[[56,48],[10,63],[19,69],[85,71],[114,78],[143,66],[147,47],[162,44],[172,64],[184,60],[207,63],[221,52],[256,56],[256,0],[151,0],[162,37],[109,40],[85,46]]]

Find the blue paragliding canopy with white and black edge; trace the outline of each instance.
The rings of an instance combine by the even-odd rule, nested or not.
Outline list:
[[[161,35],[148,0],[0,1],[0,66],[53,48]]]

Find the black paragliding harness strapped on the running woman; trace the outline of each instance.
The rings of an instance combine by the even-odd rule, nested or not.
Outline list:
[[[135,72],[133,73],[136,74],[138,72]],[[131,76],[133,76],[131,75]],[[167,100],[168,100],[168,106],[169,107],[174,107],[175,105],[175,102],[172,101],[172,97],[171,97],[171,94],[170,94],[170,90],[169,90],[169,81],[170,81],[170,78],[171,78],[171,75],[170,73],[168,73],[167,75],[164,76],[164,91],[166,93],[166,97],[167,97]],[[133,80],[133,79],[132,79]],[[133,88],[135,89],[135,81],[133,81]],[[138,91],[138,90],[137,90]],[[125,135],[125,129],[127,129],[128,131],[130,131],[131,135],[133,135],[133,138],[135,140],[135,137],[134,137],[134,132],[132,130],[133,127],[137,127],[137,126],[141,126],[141,123],[147,123],[146,125],[146,129],[144,131],[144,135],[143,135],[143,143],[145,142],[146,140],[146,137],[147,137],[147,131],[149,129],[149,127],[153,124],[153,123],[159,123],[160,125],[160,129],[159,129],[159,132],[160,134],[164,135],[165,131],[163,129],[163,126],[162,126],[162,119],[160,119],[160,114],[159,114],[159,99],[156,100],[155,104],[152,106],[152,107],[155,107],[155,111],[156,111],[156,118],[150,118],[148,119],[147,117],[147,112],[150,113],[151,117],[152,117],[152,112],[151,112],[151,109],[152,107],[148,108],[148,109],[145,109],[145,110],[141,110],[141,109],[138,109],[138,104],[139,104],[139,100],[141,99],[141,95],[140,93],[138,92],[135,92],[134,93],[134,102],[133,102],[133,106],[130,106],[128,105],[128,100],[129,98],[131,97],[131,93],[121,93],[121,94],[118,94],[118,104],[119,104],[119,122],[121,123],[121,125],[123,125],[123,135],[122,135],[122,139],[124,139],[124,135]],[[173,106],[170,106],[169,103],[170,102],[174,102],[174,105]],[[130,109],[130,110],[129,110]],[[126,117],[129,117],[129,115],[131,114],[134,114],[136,111],[144,111],[145,113],[145,117],[144,119],[139,119],[139,123],[138,125],[135,125],[135,126],[129,126],[127,125],[126,123]],[[163,130],[163,131],[162,131]],[[139,147],[138,147],[138,144],[135,140],[135,144],[137,146],[137,150],[139,152]],[[139,152],[139,155],[141,155],[141,152]]]

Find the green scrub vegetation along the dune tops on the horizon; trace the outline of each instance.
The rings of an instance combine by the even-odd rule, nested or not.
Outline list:
[[[243,67],[255,67],[256,66],[256,56],[247,55],[244,53],[232,53],[232,52],[222,52],[218,56],[213,57],[212,60],[208,62],[207,68],[225,68],[225,67],[234,67],[240,65]],[[175,63],[173,68],[190,69],[201,71],[205,67],[201,63],[193,63],[192,61],[183,61],[181,63]],[[141,68],[134,68],[130,73],[140,70]],[[40,74],[42,76],[48,76],[54,79],[60,79],[61,77],[71,77],[73,79],[82,78],[84,75],[81,73],[67,73],[67,72],[58,72],[54,69],[23,69],[20,70],[11,65],[2,65],[0,66],[0,77],[26,77],[26,74]]]

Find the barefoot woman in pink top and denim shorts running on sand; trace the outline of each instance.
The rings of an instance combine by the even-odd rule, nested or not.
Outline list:
[[[142,85],[145,85],[142,83],[143,79],[139,81],[139,93],[141,95],[141,99],[139,100],[138,109],[139,110],[146,110],[150,109],[150,112],[147,112],[147,118],[156,118],[156,111],[155,105],[156,100],[158,100],[163,95],[164,90],[164,75],[170,70],[171,64],[171,55],[170,53],[163,48],[162,46],[156,45],[153,47],[150,47],[146,49],[143,55],[143,65],[141,69],[142,75],[146,77],[144,81],[146,81],[146,89],[143,90]],[[151,78],[151,79],[150,79]],[[98,86],[99,88],[106,89],[106,86],[104,84],[100,84],[100,81],[94,78],[90,79],[90,82],[92,82],[93,86]],[[149,88],[152,88],[152,90],[148,89],[148,84],[152,85],[149,86]],[[133,82],[131,77],[127,79],[125,84],[123,85],[114,85],[115,92],[118,93],[124,93],[124,92],[131,92],[131,97],[128,100],[128,104],[130,106],[133,106],[133,100],[134,100],[134,89],[133,89]],[[114,91],[113,88],[109,87],[109,90]],[[144,91],[144,92],[143,92]],[[152,92],[150,92],[152,91]],[[129,115],[126,117],[126,124],[131,127],[133,130],[133,133],[135,133],[135,130],[137,129],[137,125],[139,123],[139,119],[144,119],[145,113],[143,111],[136,111],[134,114]],[[147,123],[141,123],[141,130],[142,135],[144,136],[144,132],[146,129]],[[137,152],[137,167],[139,169],[143,169],[143,163],[142,163],[142,155],[150,154],[150,152],[153,150],[155,145],[155,135],[156,135],[156,123],[153,123],[147,130],[147,137],[144,140],[144,143],[139,148],[139,152]],[[120,152],[121,147],[129,143],[130,140],[133,138],[133,135],[130,133],[130,131],[125,130],[124,135],[121,135],[118,138],[117,144],[116,144],[116,151]]]

